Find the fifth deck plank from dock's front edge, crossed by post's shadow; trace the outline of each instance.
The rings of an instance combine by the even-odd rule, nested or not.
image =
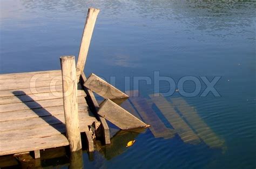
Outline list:
[[[79,96],[78,103],[86,103],[85,98],[83,96]],[[0,105],[0,113],[8,111],[55,107],[59,105],[63,105],[63,98],[55,98],[52,100],[39,100],[36,102],[2,104]]]

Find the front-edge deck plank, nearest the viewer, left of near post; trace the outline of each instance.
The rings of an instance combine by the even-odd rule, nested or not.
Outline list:
[[[66,145],[69,145],[69,142],[64,135],[15,140],[12,142],[3,142],[0,144],[0,156],[19,152],[49,149],[52,147]]]

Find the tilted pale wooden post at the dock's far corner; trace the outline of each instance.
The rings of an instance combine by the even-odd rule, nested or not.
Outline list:
[[[99,13],[99,9],[89,8],[87,18],[84,26],[84,32],[81,40],[78,61],[77,61],[77,82],[79,81],[81,73],[84,71],[84,65],[89,51],[92,32],[95,26],[95,22]]]

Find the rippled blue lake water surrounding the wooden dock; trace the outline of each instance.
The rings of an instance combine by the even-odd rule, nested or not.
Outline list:
[[[184,143],[178,135],[156,138],[147,129],[132,135],[134,145],[117,156],[96,151],[91,160],[84,152],[85,168],[256,167],[255,1],[1,0],[0,5],[0,73],[59,69],[60,56],[78,55],[87,9],[93,6],[101,11],[87,76],[93,72],[112,83],[115,77],[119,89],[139,89],[147,100],[156,93],[156,71],[176,83],[184,76],[200,80],[200,94],[184,97],[177,90],[165,98],[170,103],[173,98],[185,100],[223,141],[221,147]],[[152,83],[133,85],[134,76]],[[200,76],[209,81],[221,76],[214,86],[220,97],[200,97],[206,88]],[[169,87],[159,83],[160,92]],[[191,93],[195,85],[187,81],[183,88]],[[160,110],[153,109],[172,128]]]

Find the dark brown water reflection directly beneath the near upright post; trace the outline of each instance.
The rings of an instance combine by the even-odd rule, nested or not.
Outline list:
[[[69,168],[71,169],[83,168],[83,151],[82,150],[71,152]]]

